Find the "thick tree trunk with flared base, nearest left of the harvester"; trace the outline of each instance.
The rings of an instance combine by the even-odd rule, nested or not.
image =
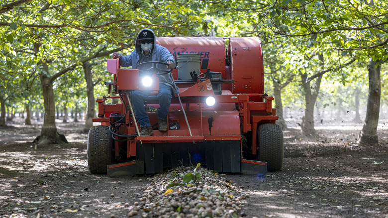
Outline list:
[[[35,53],[39,52],[39,44],[34,43]],[[47,63],[41,59],[39,65],[42,66],[42,72],[39,74],[40,84],[43,93],[44,119],[43,126],[38,138],[38,144],[58,144],[67,143],[64,135],[60,135],[55,125],[55,98],[53,90],[53,81],[49,76]]]

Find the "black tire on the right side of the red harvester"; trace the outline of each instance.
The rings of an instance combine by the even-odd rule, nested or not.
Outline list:
[[[275,123],[265,123],[257,129],[256,160],[267,162],[268,171],[281,171],[283,165],[283,131]]]

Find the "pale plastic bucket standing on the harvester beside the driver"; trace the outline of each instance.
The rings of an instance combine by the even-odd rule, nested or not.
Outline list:
[[[178,54],[178,80],[192,80],[190,72],[200,74],[201,55],[194,53]]]

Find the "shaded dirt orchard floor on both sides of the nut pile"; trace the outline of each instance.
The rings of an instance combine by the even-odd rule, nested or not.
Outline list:
[[[316,126],[313,141],[299,129],[284,131],[280,172],[265,176],[228,174],[250,198],[249,218],[388,218],[388,127],[381,121],[380,143],[358,146],[362,123]],[[82,122],[62,123],[68,144],[36,146],[41,122],[24,126],[15,118],[0,128],[0,217],[127,217],[125,203],[139,201],[147,176],[91,175]],[[388,124],[388,123],[387,123]],[[137,215],[141,217],[141,215]]]

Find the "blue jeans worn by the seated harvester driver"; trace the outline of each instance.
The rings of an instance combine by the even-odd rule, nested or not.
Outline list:
[[[150,119],[147,116],[144,107],[144,100],[151,95],[151,91],[136,90],[131,93],[131,102],[135,117],[140,127],[151,126]],[[158,96],[160,108],[158,109],[158,119],[167,119],[167,114],[173,98],[173,90],[170,86],[159,84]]]

